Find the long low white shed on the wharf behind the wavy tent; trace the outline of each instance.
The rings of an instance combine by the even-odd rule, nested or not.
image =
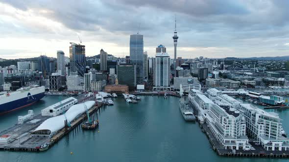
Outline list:
[[[52,104],[47,108],[41,110],[41,115],[55,117],[68,110],[72,105],[76,104],[77,102],[78,102],[77,99],[70,97],[68,99]]]

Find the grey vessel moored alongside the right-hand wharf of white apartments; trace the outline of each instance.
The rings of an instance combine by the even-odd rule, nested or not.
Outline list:
[[[180,111],[186,121],[195,121],[193,108],[190,107],[188,99],[181,98],[179,101]]]

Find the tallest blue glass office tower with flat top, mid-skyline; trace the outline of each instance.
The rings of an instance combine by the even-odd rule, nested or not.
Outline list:
[[[130,35],[129,42],[130,63],[136,66],[137,84],[144,82],[144,36]]]

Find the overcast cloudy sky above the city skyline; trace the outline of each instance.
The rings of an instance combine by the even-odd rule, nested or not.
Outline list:
[[[0,58],[69,56],[78,36],[87,56],[122,57],[139,24],[148,55],[172,57],[175,16],[179,57],[289,55],[289,0],[1,0]]]

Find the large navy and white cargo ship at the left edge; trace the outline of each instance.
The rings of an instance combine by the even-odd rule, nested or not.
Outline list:
[[[20,88],[15,92],[0,94],[0,115],[29,106],[45,96],[45,87]]]

